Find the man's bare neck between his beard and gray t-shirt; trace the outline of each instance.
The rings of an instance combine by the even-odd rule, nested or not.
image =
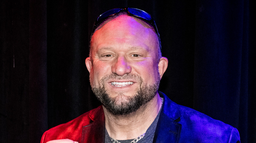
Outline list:
[[[144,134],[157,117],[161,104],[157,92],[152,100],[129,115],[113,115],[103,106],[109,136],[116,140],[127,140]]]

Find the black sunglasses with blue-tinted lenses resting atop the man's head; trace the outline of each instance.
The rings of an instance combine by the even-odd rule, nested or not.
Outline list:
[[[159,44],[160,44],[160,35],[158,33],[158,30],[157,30],[157,25],[155,23],[155,21],[153,20],[153,18],[151,17],[150,14],[148,14],[147,12],[143,11],[143,10],[140,10],[140,9],[137,9],[137,8],[114,8],[114,9],[111,9],[111,10],[108,10],[104,13],[102,13],[98,18],[97,20],[95,21],[94,25],[93,25],[93,32],[92,32],[92,35],[94,34],[96,28],[102,23],[104,22],[104,20],[106,20],[107,18],[109,18],[110,16],[113,16],[113,15],[116,15],[117,13],[119,12],[122,12],[122,11],[125,11],[127,12],[127,14],[129,16],[134,16],[136,18],[139,18],[141,20],[143,20],[144,22],[146,22],[147,24],[150,24],[151,26],[154,27],[155,29],[155,32],[158,36],[158,39],[159,39]],[[91,36],[92,36],[91,35]],[[161,44],[160,44],[160,49],[161,49]]]

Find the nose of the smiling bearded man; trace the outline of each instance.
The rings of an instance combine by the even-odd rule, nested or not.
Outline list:
[[[123,76],[126,73],[130,73],[132,71],[132,68],[127,62],[127,60],[125,59],[125,57],[120,56],[120,57],[117,57],[111,70],[112,70],[112,73],[116,73],[119,76]]]

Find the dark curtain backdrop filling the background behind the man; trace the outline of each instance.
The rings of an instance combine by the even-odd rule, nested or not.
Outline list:
[[[169,60],[159,90],[256,142],[255,5],[246,0],[0,2],[0,142],[46,130],[100,105],[85,58],[96,17],[133,7],[154,17]]]

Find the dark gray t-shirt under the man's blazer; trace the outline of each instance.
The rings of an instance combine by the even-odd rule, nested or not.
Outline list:
[[[162,107],[161,107],[162,109]],[[160,111],[161,111],[160,109]],[[141,138],[138,143],[153,143],[153,139],[154,139],[154,135],[156,132],[156,127],[157,127],[157,122],[160,116],[160,111],[157,114],[157,117],[155,118],[155,120],[152,122],[152,124],[148,127],[145,135],[143,138]],[[131,141],[133,141],[134,139],[128,139],[128,140],[117,140],[120,143],[130,143]],[[105,143],[113,143],[110,139],[110,136],[108,135],[107,129],[105,128]]]

